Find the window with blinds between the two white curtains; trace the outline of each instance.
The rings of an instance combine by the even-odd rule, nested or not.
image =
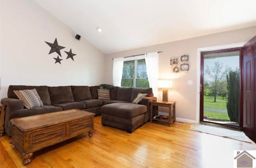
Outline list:
[[[149,88],[145,59],[124,61],[121,86]]]

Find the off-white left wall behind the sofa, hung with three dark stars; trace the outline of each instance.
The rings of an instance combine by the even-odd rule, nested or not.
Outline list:
[[[101,84],[104,78],[104,53],[86,41],[74,37],[68,26],[32,0],[1,0],[0,98],[7,97],[9,85],[87,85]],[[68,9],[67,9],[68,12]],[[48,55],[55,38],[62,54]],[[68,51],[76,54],[67,59]],[[54,57],[54,58],[53,58]]]

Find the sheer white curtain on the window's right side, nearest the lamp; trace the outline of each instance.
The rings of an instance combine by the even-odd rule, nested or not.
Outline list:
[[[149,87],[152,88],[154,96],[158,95],[158,52],[145,54]]]

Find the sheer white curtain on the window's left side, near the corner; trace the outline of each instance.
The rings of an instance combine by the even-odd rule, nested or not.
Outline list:
[[[113,62],[113,84],[114,84],[114,86],[121,86],[123,66],[124,66],[124,58],[114,58],[114,62]]]

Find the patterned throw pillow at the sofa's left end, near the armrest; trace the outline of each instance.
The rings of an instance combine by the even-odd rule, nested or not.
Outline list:
[[[32,90],[14,90],[13,91],[26,108],[41,107],[44,106],[41,98],[39,97],[36,89]]]

